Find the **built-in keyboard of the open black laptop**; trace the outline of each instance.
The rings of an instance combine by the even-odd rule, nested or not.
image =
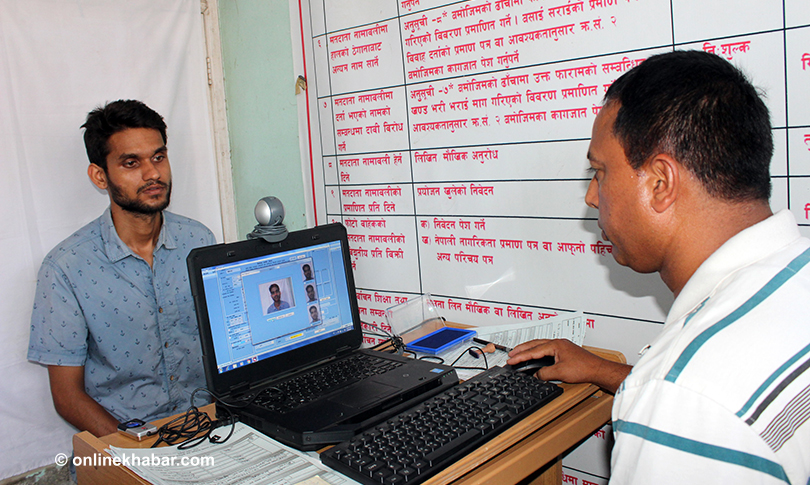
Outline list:
[[[385,374],[401,365],[400,362],[355,353],[264,389],[256,396],[254,404],[274,412],[287,413],[334,390]]]

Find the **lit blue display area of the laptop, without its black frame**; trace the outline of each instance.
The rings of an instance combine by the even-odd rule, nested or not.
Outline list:
[[[354,328],[340,241],[202,268],[218,372]]]

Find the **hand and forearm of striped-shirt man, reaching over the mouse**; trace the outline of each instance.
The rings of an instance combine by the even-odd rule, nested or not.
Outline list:
[[[554,356],[554,365],[543,367],[538,376],[546,381],[590,382],[615,393],[633,366],[597,357],[570,340],[531,340],[509,353],[507,364]]]

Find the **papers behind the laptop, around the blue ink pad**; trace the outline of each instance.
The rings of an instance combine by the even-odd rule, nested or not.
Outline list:
[[[475,327],[478,338],[513,348],[523,342],[534,339],[567,338],[577,345],[582,345],[585,340],[585,315],[582,312],[575,312],[568,315],[547,318],[539,322],[519,322],[504,325],[493,325],[487,327]],[[475,358],[464,348],[451,349],[448,352],[439,354],[445,364],[454,364],[456,367],[480,367],[479,370],[456,369],[461,380],[467,380],[481,373],[484,369],[484,359]],[[505,365],[509,360],[507,352],[496,350],[491,354],[486,354],[486,364],[488,367]]]

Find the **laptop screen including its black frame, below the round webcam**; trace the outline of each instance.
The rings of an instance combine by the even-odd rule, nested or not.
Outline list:
[[[327,224],[192,250],[189,279],[210,390],[227,394],[359,348],[346,228]]]

